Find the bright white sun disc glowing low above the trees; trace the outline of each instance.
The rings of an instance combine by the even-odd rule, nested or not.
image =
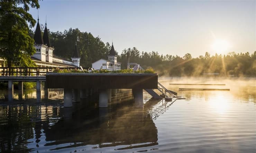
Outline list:
[[[229,48],[230,48],[229,42],[224,39],[215,39],[215,41],[212,44],[212,49],[217,54],[223,54],[227,52]]]

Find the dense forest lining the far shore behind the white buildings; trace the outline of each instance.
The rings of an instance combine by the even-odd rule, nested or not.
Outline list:
[[[42,27],[42,29],[44,29]],[[33,37],[33,31],[30,30]],[[63,32],[49,31],[52,46],[55,48],[54,54],[70,58],[73,55],[75,41],[81,60],[80,65],[91,67],[94,61],[100,58],[106,59],[111,45],[104,43],[100,37],[94,37],[90,32],[82,32],[79,29],[68,29]],[[114,44],[115,46],[115,44]],[[160,55],[157,51],[140,51],[136,47],[127,48],[121,51],[118,61],[121,68],[127,67],[127,53],[129,52],[130,63],[140,64],[143,68],[152,67],[159,75],[166,76],[203,76],[216,73],[217,76],[235,77],[255,77],[256,76],[256,51],[230,52],[227,55],[205,55],[192,57],[190,53],[183,57],[177,55]]]

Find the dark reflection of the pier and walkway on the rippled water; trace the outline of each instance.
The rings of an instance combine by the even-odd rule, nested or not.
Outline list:
[[[55,92],[49,91],[49,95]],[[35,103],[33,92],[24,91],[25,98],[33,98],[22,101],[14,95],[16,101],[1,102],[0,131],[7,132],[0,134],[0,151],[40,152],[86,145],[94,149],[120,146],[115,149],[124,150],[158,144],[151,115],[152,106],[159,100],[150,100],[144,108],[136,108],[130,90],[112,97],[108,108],[98,108],[97,96],[81,99],[66,108],[62,100],[54,100],[53,96]]]

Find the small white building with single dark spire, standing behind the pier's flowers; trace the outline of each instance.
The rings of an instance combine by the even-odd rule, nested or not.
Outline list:
[[[106,69],[106,70],[120,70],[121,63],[117,61],[116,52],[112,43],[111,49],[109,51],[108,60],[99,59],[92,63],[92,68],[94,70]]]

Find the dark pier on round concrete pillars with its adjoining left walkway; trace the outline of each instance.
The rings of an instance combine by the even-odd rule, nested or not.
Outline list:
[[[8,82],[8,101],[12,101],[14,82],[18,82],[21,95],[24,82],[36,82],[37,102],[41,101],[42,82],[45,82],[46,94],[49,88],[64,89],[64,107],[72,107],[73,102],[80,102],[80,99],[95,92],[99,94],[99,107],[108,107],[111,96],[115,96],[118,89],[132,89],[136,107],[143,107],[143,89],[153,97],[160,97],[153,91],[158,89],[157,74],[51,72],[45,73],[45,76],[0,76],[0,82]]]

